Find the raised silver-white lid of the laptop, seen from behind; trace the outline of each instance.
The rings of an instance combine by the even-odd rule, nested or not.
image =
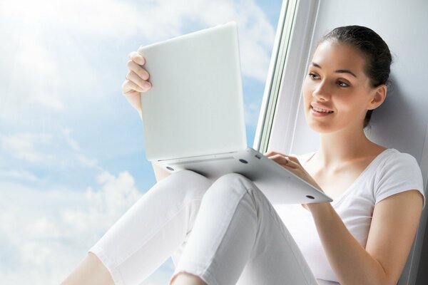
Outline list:
[[[247,147],[238,31],[223,24],[138,50],[152,88],[141,93],[148,160]]]

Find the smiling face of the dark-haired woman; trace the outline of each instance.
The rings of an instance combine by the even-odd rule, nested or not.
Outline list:
[[[303,83],[307,124],[318,133],[362,130],[375,90],[364,73],[365,58],[343,43],[324,41]]]

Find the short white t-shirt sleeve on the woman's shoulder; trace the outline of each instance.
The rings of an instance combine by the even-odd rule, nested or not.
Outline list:
[[[400,192],[418,190],[422,194],[425,207],[422,173],[412,155],[397,151],[379,166],[374,185],[375,204]]]

